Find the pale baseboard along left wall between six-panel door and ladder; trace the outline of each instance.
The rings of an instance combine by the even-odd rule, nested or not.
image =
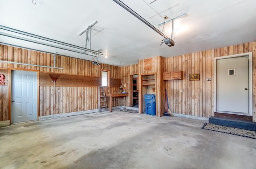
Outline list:
[[[76,112],[71,112],[71,113],[61,113],[61,114],[53,114],[53,115],[44,115],[44,116],[39,116],[38,121],[49,120],[49,119],[58,119],[58,118],[62,118],[62,117],[69,117],[69,116],[74,116],[74,115],[82,115],[82,114],[95,113],[95,112],[99,112],[99,109],[76,111]]]

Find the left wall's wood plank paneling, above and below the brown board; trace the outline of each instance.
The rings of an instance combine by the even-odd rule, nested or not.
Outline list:
[[[91,56],[86,56],[91,57]],[[54,55],[43,52],[36,52],[16,48],[12,46],[0,45],[0,60],[9,62],[18,62],[24,64],[34,64],[42,66],[54,66]],[[37,66],[26,66],[19,64],[6,64],[0,62],[0,69],[18,68],[20,70],[38,70],[42,73],[61,74],[62,78],[68,78],[75,75],[84,76],[84,78],[99,78],[102,76],[102,70],[110,71],[110,78],[116,80],[122,78],[121,67],[100,64],[100,66],[92,64],[90,61],[56,55],[56,67],[64,68],[63,70],[54,68],[42,68]],[[3,69],[2,69],[3,70]],[[50,77],[49,77],[50,80]],[[40,81],[40,79],[39,79]],[[88,81],[88,80],[87,80]],[[59,81],[61,82],[61,81]],[[83,111],[90,109],[98,109],[98,88],[92,84],[74,85],[57,83],[54,91],[53,84],[40,85],[40,115],[52,115],[56,113],[68,113],[74,111]],[[94,83],[96,84],[96,83]],[[115,85],[116,86],[116,85]],[[0,121],[9,120],[8,112],[8,85],[0,85]],[[60,93],[58,93],[60,89]],[[118,92],[118,87],[108,87],[108,92]],[[122,105],[121,99],[113,99],[113,106]],[[109,105],[109,103],[108,103]],[[3,108],[2,108],[3,107]]]

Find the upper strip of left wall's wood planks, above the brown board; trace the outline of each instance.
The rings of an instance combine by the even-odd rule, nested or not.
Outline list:
[[[86,56],[91,57],[91,56]],[[12,46],[0,45],[0,60],[9,62],[18,62],[24,64],[34,64],[42,66],[54,66],[54,55],[43,52],[36,52],[16,48]],[[38,70],[40,72],[52,72],[60,74],[74,74],[85,76],[101,77],[102,70],[110,70],[110,78],[121,79],[121,67],[100,64],[94,65],[90,61],[71,58],[67,56],[56,55],[56,67],[64,68],[63,70],[54,68],[42,68],[37,66],[26,66],[19,64],[6,64],[0,62],[0,68],[20,68],[26,70]]]

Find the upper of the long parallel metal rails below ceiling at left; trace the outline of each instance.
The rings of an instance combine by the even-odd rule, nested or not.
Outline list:
[[[25,35],[25,36],[30,36],[32,38],[46,40],[48,42],[52,42],[52,43],[56,43],[56,44],[61,44],[61,45],[64,45],[64,46],[69,46],[69,47],[80,49],[80,50],[85,50],[85,51],[92,52],[92,53],[95,53],[95,54],[103,55],[102,52],[98,52],[98,51],[95,51],[95,50],[90,50],[90,49],[82,48],[80,46],[75,46],[75,45],[72,45],[72,44],[68,44],[68,43],[65,43],[65,42],[58,41],[58,40],[53,40],[53,39],[50,39],[50,38],[45,38],[43,36],[38,36],[38,35],[35,35],[35,34],[30,34],[28,32],[23,32],[23,31],[16,30],[16,29],[13,29],[13,28],[8,28],[6,26],[0,25],[0,29],[7,30],[7,31],[10,31],[10,32],[14,32],[14,33],[17,33],[17,34],[22,34],[22,35]],[[56,46],[54,46],[54,47],[56,48]]]

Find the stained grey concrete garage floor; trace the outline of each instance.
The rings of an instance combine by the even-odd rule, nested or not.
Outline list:
[[[1,169],[256,169],[256,140],[205,121],[90,113],[0,128]]]

